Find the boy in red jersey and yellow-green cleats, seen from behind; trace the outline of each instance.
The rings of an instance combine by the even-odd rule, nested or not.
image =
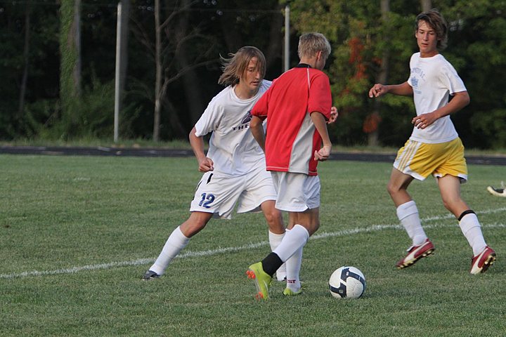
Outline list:
[[[323,34],[303,34],[298,52],[299,65],[273,81],[254,105],[249,124],[266,153],[266,168],[278,192],[275,207],[289,214],[287,232],[279,246],[247,270],[257,286],[257,298],[264,300],[275,271],[285,262],[287,287],[283,294],[301,293],[302,248],[320,225],[316,165],[329,157],[332,147],[326,125],[332,120],[332,95],[329,79],[322,72],[330,44]],[[266,118],[264,133],[261,125]]]

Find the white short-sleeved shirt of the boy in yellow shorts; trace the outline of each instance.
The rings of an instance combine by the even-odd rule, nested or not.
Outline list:
[[[414,53],[410,70],[408,84],[413,87],[417,116],[443,107],[448,104],[449,95],[467,90],[455,68],[441,54],[420,58],[420,53]],[[458,133],[448,115],[427,128],[414,127],[410,139],[434,144],[449,142],[457,137]]]

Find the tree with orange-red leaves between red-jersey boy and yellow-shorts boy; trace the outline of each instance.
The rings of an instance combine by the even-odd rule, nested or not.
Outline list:
[[[382,3],[382,13],[382,7],[376,3],[358,0],[291,3],[292,22],[297,31],[322,32],[330,40],[332,55],[326,72],[334,104],[339,107],[339,123],[330,127],[330,133],[341,145],[368,142],[388,145],[385,140],[396,143],[406,138],[406,132],[399,130],[399,121],[406,118],[398,116],[406,114],[413,103],[406,98],[386,97],[382,98],[381,106],[375,106],[378,103],[367,95],[375,81],[383,81],[387,76],[391,81],[405,81],[406,60],[413,51],[409,39],[412,8],[397,1],[396,8],[389,11],[387,5],[387,1]],[[383,19],[377,20],[380,17]]]

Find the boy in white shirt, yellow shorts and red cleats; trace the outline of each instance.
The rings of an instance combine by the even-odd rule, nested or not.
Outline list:
[[[473,250],[471,274],[485,272],[495,261],[495,251],[487,246],[476,213],[460,197],[460,184],[467,180],[464,146],[450,119],[469,104],[462,79],[439,49],[446,46],[448,28],[436,10],[416,18],[415,38],[420,51],[410,60],[408,81],[397,85],[375,84],[370,98],[386,93],[413,95],[417,116],[411,121],[413,133],[398,151],[388,183],[388,192],[397,208],[398,219],[413,242],[408,255],[399,260],[399,269],[410,267],[434,252],[420,223],[415,201],[407,189],[413,179],[432,174],[441,191],[443,204],[458,219],[460,229]],[[453,95],[448,101],[449,95]]]

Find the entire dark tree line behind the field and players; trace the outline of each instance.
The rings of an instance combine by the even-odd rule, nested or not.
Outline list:
[[[283,72],[287,1],[120,0],[122,139],[187,139],[221,90],[220,55],[245,45],[266,54],[266,78]],[[117,0],[0,0],[0,140],[111,139]],[[408,78],[414,19],[436,7],[448,21],[443,51],[471,104],[452,116],[467,147],[506,148],[505,0],[292,0],[290,66],[297,38],[318,31],[332,45],[325,71],[340,117],[340,145],[398,147],[409,136],[410,98],[370,100],[375,82]]]

